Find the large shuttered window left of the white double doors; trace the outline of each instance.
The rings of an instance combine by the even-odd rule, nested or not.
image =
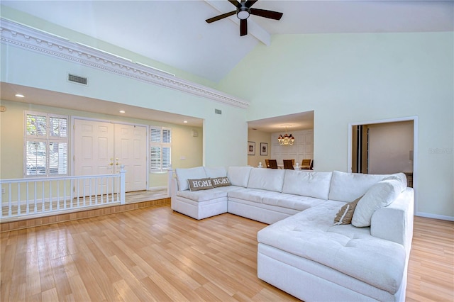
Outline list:
[[[26,111],[25,122],[24,174],[67,174],[67,116]]]

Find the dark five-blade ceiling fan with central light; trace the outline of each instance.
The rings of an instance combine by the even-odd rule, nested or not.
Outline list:
[[[258,0],[228,0],[231,4],[236,6],[236,11],[231,11],[229,13],[223,13],[222,15],[206,19],[206,23],[212,23],[214,21],[221,20],[236,14],[237,18],[240,19],[240,36],[248,34],[248,21],[250,15],[260,16],[264,18],[270,18],[275,20],[280,20],[283,13],[277,11],[267,11],[265,9],[252,9],[251,6],[255,4]]]

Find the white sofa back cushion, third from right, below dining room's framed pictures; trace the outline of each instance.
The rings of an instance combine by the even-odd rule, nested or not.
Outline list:
[[[253,168],[250,171],[248,188],[282,192],[284,169]]]

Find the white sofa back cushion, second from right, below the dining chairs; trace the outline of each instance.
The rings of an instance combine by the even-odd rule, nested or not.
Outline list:
[[[332,172],[284,171],[282,193],[328,199]]]

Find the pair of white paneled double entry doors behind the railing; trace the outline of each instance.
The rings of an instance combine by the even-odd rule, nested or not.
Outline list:
[[[74,175],[113,174],[124,165],[126,191],[145,190],[146,148],[145,126],[74,119]]]

